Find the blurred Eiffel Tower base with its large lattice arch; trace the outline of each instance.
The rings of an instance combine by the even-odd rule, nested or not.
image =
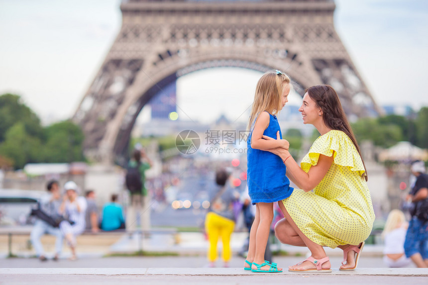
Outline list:
[[[73,117],[92,160],[123,156],[143,106],[206,68],[283,70],[301,95],[333,86],[350,117],[381,113],[334,29],[332,0],[126,0],[120,9],[120,32]]]

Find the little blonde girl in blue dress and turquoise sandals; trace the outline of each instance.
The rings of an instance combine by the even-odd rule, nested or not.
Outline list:
[[[247,145],[248,193],[256,205],[256,215],[250,230],[248,256],[244,269],[252,272],[282,272],[275,263],[264,260],[266,243],[273,218],[273,202],[291,195],[290,181],[285,176],[285,164],[279,156],[268,151],[277,147],[288,149],[282,139],[275,114],[288,102],[290,78],[280,71],[265,73],[257,83],[251,115],[248,121],[250,135]],[[281,138],[265,140],[262,136]]]

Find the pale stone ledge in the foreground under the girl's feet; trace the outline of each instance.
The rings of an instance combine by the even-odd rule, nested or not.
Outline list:
[[[332,273],[252,273],[241,268],[26,268],[0,269],[1,284],[426,284],[428,269],[359,268]]]

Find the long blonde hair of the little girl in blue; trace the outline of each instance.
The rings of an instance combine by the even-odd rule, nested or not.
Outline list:
[[[282,105],[282,93],[286,85],[290,83],[290,77],[279,70],[268,71],[259,79],[248,120],[248,130],[252,130],[255,120],[261,112],[279,113]]]

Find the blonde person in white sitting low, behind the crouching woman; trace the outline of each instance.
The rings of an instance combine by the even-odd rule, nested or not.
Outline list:
[[[392,210],[382,232],[384,239],[383,261],[388,267],[406,267],[412,261],[404,254],[407,222],[404,213]]]

